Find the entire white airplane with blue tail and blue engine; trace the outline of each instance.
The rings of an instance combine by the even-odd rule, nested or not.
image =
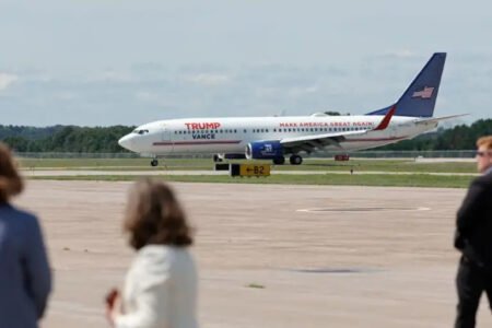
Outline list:
[[[437,127],[435,101],[446,60],[445,52],[432,56],[395,104],[366,115],[291,117],[226,117],[159,120],[139,126],[118,143],[153,157],[169,154],[214,154],[222,159],[271,160],[292,165],[304,153],[337,150],[341,153],[372,149],[411,139]]]

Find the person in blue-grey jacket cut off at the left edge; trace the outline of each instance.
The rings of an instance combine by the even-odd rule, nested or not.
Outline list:
[[[0,327],[37,327],[51,291],[39,223],[10,204],[23,188],[10,149],[0,142]]]

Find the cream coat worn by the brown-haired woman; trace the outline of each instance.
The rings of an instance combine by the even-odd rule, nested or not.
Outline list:
[[[117,328],[197,328],[197,271],[186,247],[142,247],[127,273]]]

